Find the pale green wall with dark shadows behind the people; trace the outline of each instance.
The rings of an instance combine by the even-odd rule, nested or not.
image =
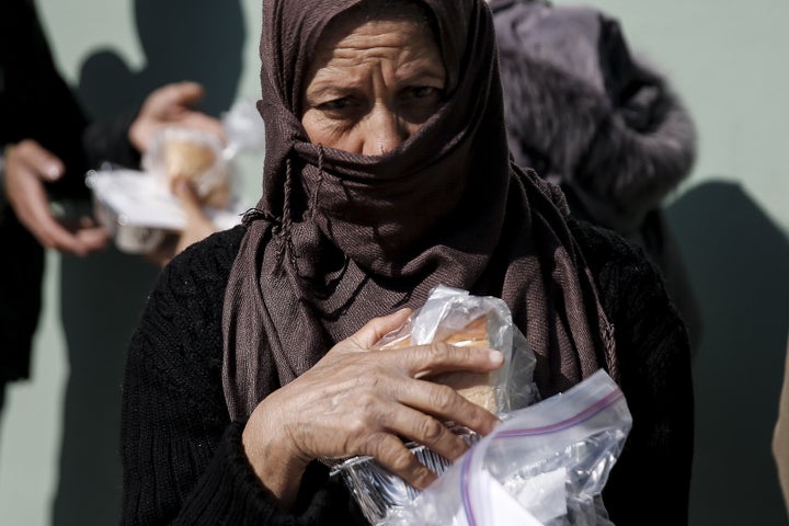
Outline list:
[[[787,524],[769,441],[789,330],[789,2],[590,3],[672,79],[699,132],[696,169],[668,206],[705,321],[691,524]],[[215,113],[258,98],[260,0],[37,4],[61,72],[96,115],[184,75],[205,76]],[[199,53],[169,55],[186,41]],[[254,199],[260,159],[242,165]],[[114,524],[124,345],[157,268],[114,250],[47,263],[34,378],[11,387],[0,424],[0,523]]]

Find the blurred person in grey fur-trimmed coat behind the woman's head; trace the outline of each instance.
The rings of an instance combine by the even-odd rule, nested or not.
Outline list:
[[[701,316],[662,204],[693,168],[696,130],[668,80],[591,7],[490,0],[515,162],[559,184],[573,215],[642,247],[691,350]]]

